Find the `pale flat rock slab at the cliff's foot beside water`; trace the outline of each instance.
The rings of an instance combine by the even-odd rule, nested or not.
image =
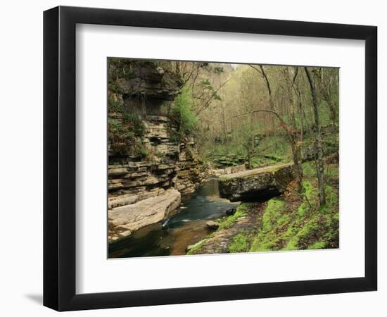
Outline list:
[[[180,193],[168,189],[165,194],[108,211],[109,241],[131,235],[134,230],[158,223],[180,204]],[[114,239],[114,237],[116,237]]]

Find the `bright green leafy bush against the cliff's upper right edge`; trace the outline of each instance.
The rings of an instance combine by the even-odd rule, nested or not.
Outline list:
[[[179,140],[192,135],[198,125],[198,117],[194,113],[194,99],[189,88],[184,87],[181,90],[171,110],[179,127]]]

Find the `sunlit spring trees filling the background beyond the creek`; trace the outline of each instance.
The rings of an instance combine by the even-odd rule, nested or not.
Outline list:
[[[262,156],[257,140],[282,135],[288,160],[295,164],[298,192],[303,192],[303,160],[316,160],[319,202],[324,204],[322,128],[337,130],[337,68],[191,62],[174,67],[189,87],[197,147],[205,159],[232,154],[254,168]],[[304,153],[310,149],[314,153]]]

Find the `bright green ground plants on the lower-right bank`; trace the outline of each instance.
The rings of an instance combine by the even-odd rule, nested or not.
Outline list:
[[[267,202],[250,251],[338,247],[338,191],[326,185],[326,204],[318,207],[316,183],[315,178],[303,182],[303,199],[296,210],[286,200]]]

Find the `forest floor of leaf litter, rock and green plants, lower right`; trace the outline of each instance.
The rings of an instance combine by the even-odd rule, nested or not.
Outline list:
[[[326,166],[324,206],[318,206],[314,164],[303,163],[303,195],[291,182],[279,197],[239,205],[187,254],[338,248],[338,164]]]

